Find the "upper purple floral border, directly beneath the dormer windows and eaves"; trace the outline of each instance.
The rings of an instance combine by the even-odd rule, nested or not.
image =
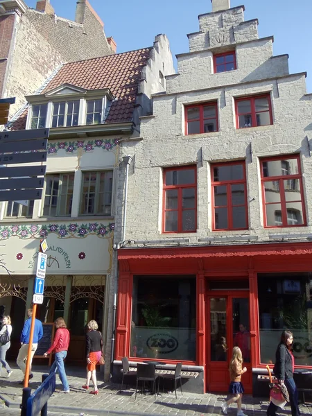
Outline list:
[[[118,145],[119,139],[58,141],[58,143],[51,143],[51,141],[49,141],[48,154],[55,155],[58,153],[58,150],[65,150],[67,153],[74,153],[78,149],[83,149],[85,152],[90,152],[95,148],[102,148],[108,152]]]

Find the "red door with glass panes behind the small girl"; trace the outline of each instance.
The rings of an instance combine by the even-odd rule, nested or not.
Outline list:
[[[227,392],[229,388],[229,361],[232,349],[239,346],[243,354],[242,376],[246,393],[252,392],[252,364],[250,356],[249,292],[233,291],[207,295],[207,390]]]

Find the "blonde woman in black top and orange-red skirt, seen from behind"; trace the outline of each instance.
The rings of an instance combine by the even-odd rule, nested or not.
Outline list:
[[[98,324],[95,320],[87,323],[87,334],[85,336],[87,347],[87,382],[83,385],[85,390],[89,390],[89,382],[92,380],[94,390],[91,395],[98,395],[98,386],[96,383],[96,364],[101,360],[103,339],[102,334],[98,331]]]

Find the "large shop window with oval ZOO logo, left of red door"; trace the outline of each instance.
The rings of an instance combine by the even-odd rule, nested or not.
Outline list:
[[[134,277],[130,356],[196,361],[196,277]]]

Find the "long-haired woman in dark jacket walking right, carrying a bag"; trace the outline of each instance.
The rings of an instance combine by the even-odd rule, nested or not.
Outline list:
[[[298,392],[295,381],[293,380],[295,358],[291,352],[291,345],[293,345],[293,333],[290,331],[283,331],[283,333],[281,333],[281,342],[277,346],[273,371],[279,384],[286,385],[289,393],[289,400],[291,402],[291,415],[300,416]],[[266,413],[268,416],[275,416],[277,409],[278,407],[271,401]]]

